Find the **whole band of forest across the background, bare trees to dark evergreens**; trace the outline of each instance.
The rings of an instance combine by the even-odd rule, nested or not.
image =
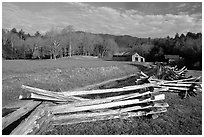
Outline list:
[[[174,37],[138,38],[129,35],[93,34],[75,31],[72,25],[30,35],[22,29],[2,29],[2,58],[57,59],[72,55],[111,58],[114,53],[135,51],[147,62],[165,61],[164,55],[179,55],[189,69],[202,69],[202,34],[176,33]]]

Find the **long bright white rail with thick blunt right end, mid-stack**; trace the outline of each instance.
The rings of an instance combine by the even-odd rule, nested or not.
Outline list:
[[[98,105],[92,105],[92,106],[82,106],[82,107],[75,107],[70,106],[67,107],[67,105],[57,105],[57,106],[51,106],[48,108],[53,114],[62,114],[62,113],[70,113],[70,112],[80,112],[80,111],[86,111],[86,110],[97,110],[97,109],[105,109],[105,108],[112,108],[117,106],[125,106],[125,105],[131,105],[131,104],[138,104],[138,103],[146,103],[150,101],[158,101],[158,100],[164,100],[165,95],[160,94],[154,96],[154,98],[148,98],[148,99],[134,99],[134,100],[125,100],[125,101],[117,101],[117,102],[110,102],[105,104],[98,104]]]

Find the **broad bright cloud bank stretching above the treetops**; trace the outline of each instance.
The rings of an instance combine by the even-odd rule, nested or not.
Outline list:
[[[179,7],[185,6],[184,4]],[[187,31],[201,32],[201,13],[145,15],[137,10],[94,7],[86,3],[62,3],[39,11],[3,3],[3,27],[45,32],[54,26],[73,25],[76,30],[138,37],[166,37]]]

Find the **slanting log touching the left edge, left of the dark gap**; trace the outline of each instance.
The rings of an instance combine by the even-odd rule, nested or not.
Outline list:
[[[22,116],[26,115],[30,111],[32,111],[36,106],[38,106],[41,102],[39,101],[31,101],[30,103],[22,106],[17,109],[13,113],[10,113],[2,118],[2,130],[6,128],[8,125],[12,124],[14,121],[17,121]]]

